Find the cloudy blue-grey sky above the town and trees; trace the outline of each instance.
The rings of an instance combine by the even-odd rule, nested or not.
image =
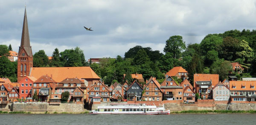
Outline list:
[[[25,4],[32,53],[47,56],[80,47],[86,59],[124,57],[136,45],[163,53],[170,36],[189,44],[256,29],[256,0],[0,0],[0,44],[16,52]]]

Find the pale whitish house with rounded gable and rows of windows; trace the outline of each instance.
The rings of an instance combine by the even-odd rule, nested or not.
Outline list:
[[[221,81],[212,88],[212,98],[215,101],[229,100],[230,99],[230,90],[225,86]]]

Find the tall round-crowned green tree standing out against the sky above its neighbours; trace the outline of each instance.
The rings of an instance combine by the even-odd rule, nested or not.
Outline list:
[[[179,58],[181,51],[186,49],[186,44],[183,41],[182,36],[171,36],[166,40],[166,46],[163,51],[165,53],[169,52],[173,54],[173,58]]]

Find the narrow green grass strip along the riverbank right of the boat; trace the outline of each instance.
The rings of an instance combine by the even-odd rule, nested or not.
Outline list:
[[[231,110],[187,110],[187,111],[174,111],[172,113],[175,114],[183,114],[183,113],[256,113],[256,110],[249,111],[231,111]]]

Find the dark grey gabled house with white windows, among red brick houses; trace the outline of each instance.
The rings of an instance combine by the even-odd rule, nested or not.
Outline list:
[[[142,97],[143,86],[136,80],[132,82],[126,91],[126,97],[129,101],[140,101]]]

